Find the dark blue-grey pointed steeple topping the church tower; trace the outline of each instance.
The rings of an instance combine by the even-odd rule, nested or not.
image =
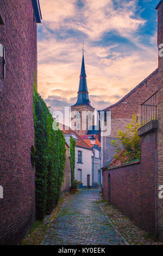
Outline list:
[[[90,100],[89,100],[88,94],[89,92],[87,90],[87,83],[86,83],[86,72],[85,72],[85,64],[84,64],[84,45],[83,45],[83,58],[82,58],[82,67],[80,71],[78,100],[77,100],[77,103],[74,104],[73,106],[77,106],[77,105],[90,106]]]

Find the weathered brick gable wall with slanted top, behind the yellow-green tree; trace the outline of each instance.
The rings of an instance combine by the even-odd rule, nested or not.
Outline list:
[[[111,139],[117,139],[117,131],[124,131],[126,125],[131,122],[133,114],[137,115],[137,121],[141,121],[141,103],[148,99],[158,90],[158,69],[156,69],[145,80],[138,84],[130,93],[124,96],[114,105],[105,108],[111,111],[111,133],[103,138],[103,165],[106,164],[115,154],[110,144]]]

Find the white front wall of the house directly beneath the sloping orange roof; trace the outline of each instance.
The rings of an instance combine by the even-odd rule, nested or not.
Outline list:
[[[82,163],[78,162],[78,151],[82,152]],[[87,187],[87,175],[90,175],[89,185],[92,185],[92,150],[76,146],[76,167],[74,175],[76,180],[83,182],[84,187]]]

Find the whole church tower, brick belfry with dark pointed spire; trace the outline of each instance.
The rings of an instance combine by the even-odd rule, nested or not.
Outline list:
[[[79,136],[86,135],[89,127],[94,125],[94,111],[95,108],[91,106],[91,102],[89,100],[89,92],[87,90],[83,45],[83,58],[80,72],[78,99],[76,104],[71,106],[72,129],[74,127],[73,130],[75,130]]]

